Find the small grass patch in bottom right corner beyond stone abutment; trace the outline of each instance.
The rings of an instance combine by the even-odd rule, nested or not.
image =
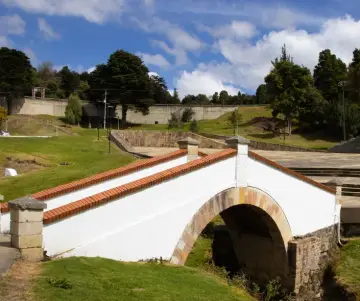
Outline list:
[[[350,240],[341,249],[335,273],[340,284],[360,300],[360,239]]]

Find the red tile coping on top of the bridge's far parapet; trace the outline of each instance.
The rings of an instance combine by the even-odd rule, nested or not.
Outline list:
[[[135,171],[147,168],[147,167],[152,167],[152,166],[155,166],[160,163],[164,163],[164,162],[167,162],[170,160],[177,159],[179,157],[185,156],[186,154],[187,154],[186,149],[180,149],[180,150],[171,152],[171,153],[163,155],[163,156],[158,156],[158,157],[154,157],[151,159],[145,159],[145,160],[138,160],[129,165],[119,167],[117,169],[108,170],[103,173],[99,173],[99,174],[96,174],[96,175],[93,175],[93,176],[90,176],[90,177],[87,177],[84,179],[76,180],[71,183],[63,184],[63,185],[60,185],[57,187],[53,187],[53,188],[49,188],[49,189],[37,192],[37,193],[31,195],[31,197],[33,197],[34,199],[37,199],[39,201],[46,201],[50,198],[53,198],[53,197],[56,197],[56,196],[59,196],[59,195],[65,194],[65,193],[73,192],[75,190],[89,187],[91,185],[104,182],[106,180],[111,180],[111,179],[114,179],[114,178],[117,178],[120,176],[124,176],[124,175],[130,174],[132,172],[135,172]],[[0,204],[0,211],[2,213],[9,212],[8,204],[7,203]]]

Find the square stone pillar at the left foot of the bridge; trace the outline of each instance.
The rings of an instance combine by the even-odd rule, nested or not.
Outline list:
[[[44,257],[43,216],[45,202],[24,197],[9,202],[11,246],[19,249],[23,259],[38,262]]]

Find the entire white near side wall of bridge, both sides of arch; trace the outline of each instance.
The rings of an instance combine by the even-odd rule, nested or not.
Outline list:
[[[44,248],[50,256],[169,259],[201,206],[235,187],[235,165],[236,157],[226,159],[46,225]],[[265,191],[279,204],[294,236],[335,223],[334,195],[252,159],[244,172],[249,186]]]

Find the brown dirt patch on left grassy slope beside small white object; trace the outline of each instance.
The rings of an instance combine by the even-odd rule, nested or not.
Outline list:
[[[34,170],[49,167],[45,162],[39,161],[36,158],[19,158],[19,157],[5,157],[4,163],[0,165],[0,178],[4,177],[5,168],[13,168],[17,173],[25,174]]]

